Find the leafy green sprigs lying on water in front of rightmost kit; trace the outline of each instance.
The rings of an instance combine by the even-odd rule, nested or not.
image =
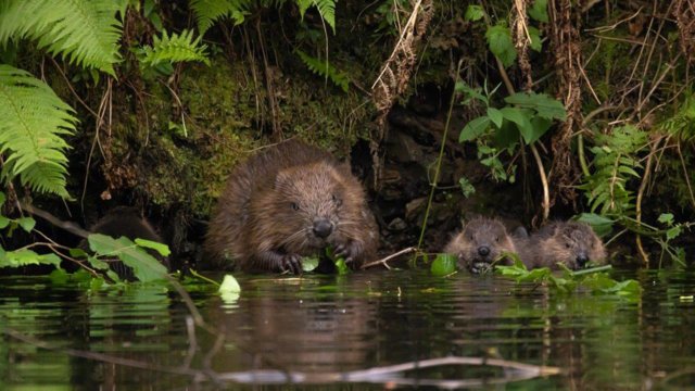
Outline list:
[[[639,297],[642,291],[640,283],[635,280],[616,281],[608,277],[606,273],[603,273],[610,269],[610,265],[579,272],[565,268],[561,276],[558,276],[547,267],[529,270],[516,254],[509,254],[509,256],[514,258],[514,264],[510,266],[496,266],[496,270],[503,276],[513,277],[517,282],[546,285],[559,293],[572,293],[579,287],[589,289],[594,294],[619,294],[623,297]]]

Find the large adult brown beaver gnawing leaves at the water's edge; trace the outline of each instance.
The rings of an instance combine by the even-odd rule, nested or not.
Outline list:
[[[247,272],[302,273],[302,256],[332,245],[356,268],[378,229],[350,166],[289,140],[235,168],[205,237],[204,262]]]

